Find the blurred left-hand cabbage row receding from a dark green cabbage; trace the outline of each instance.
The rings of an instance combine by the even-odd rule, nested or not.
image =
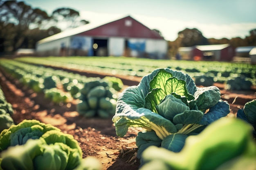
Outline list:
[[[115,114],[118,91],[123,83],[116,77],[86,77],[66,71],[34,66],[15,60],[1,60],[1,67],[36,93],[60,106],[76,103],[76,110],[85,117],[107,118]]]

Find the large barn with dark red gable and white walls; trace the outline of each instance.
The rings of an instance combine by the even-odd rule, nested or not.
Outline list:
[[[36,44],[40,56],[129,56],[164,59],[168,44],[159,33],[131,16],[52,35]]]

